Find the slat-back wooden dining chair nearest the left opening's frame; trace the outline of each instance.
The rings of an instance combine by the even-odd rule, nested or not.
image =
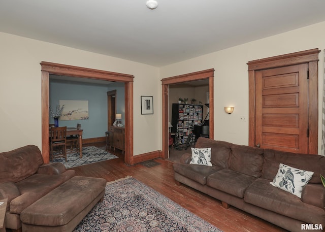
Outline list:
[[[67,161],[67,126],[50,128],[50,160],[64,157]]]

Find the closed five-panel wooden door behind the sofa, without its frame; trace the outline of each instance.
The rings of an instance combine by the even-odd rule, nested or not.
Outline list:
[[[256,146],[308,153],[308,64],[257,71]]]

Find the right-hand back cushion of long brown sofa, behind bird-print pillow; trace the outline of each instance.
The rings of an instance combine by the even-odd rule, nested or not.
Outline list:
[[[264,149],[262,178],[273,180],[280,163],[296,169],[314,172],[308,183],[321,184],[319,175],[325,175],[324,156]]]

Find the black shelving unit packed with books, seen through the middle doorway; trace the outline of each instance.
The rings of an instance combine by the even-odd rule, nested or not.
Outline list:
[[[203,105],[192,104],[173,104],[172,106],[172,125],[171,131],[180,132],[179,144],[186,142],[190,133],[189,127],[194,125],[202,125]]]

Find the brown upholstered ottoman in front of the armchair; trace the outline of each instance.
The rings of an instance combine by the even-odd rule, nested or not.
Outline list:
[[[104,196],[106,180],[75,176],[20,214],[22,231],[73,231]]]

